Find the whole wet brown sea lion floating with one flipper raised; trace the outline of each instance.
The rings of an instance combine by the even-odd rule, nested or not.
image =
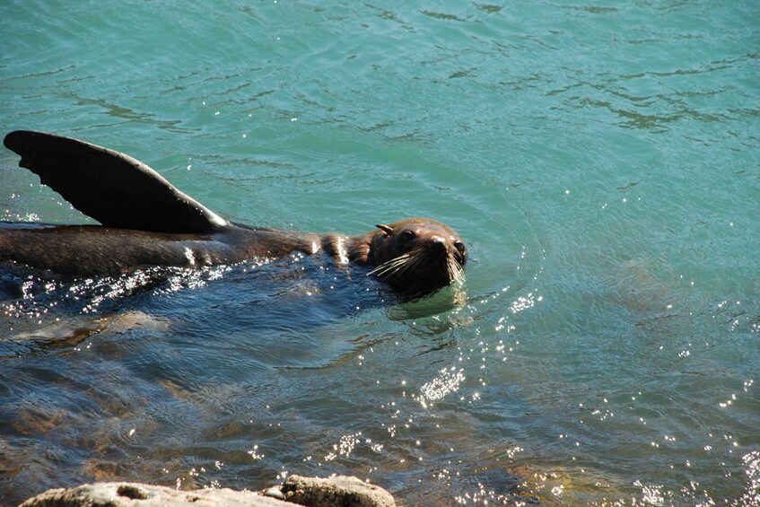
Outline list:
[[[142,162],[77,139],[14,131],[4,144],[101,225],[0,223],[0,262],[58,275],[120,275],[144,267],[205,267],[322,252],[402,293],[432,293],[464,280],[467,247],[443,223],[409,218],[356,236],[231,223]]]

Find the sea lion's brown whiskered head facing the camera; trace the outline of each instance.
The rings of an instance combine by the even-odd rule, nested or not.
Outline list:
[[[426,218],[379,224],[371,232],[371,271],[395,290],[432,293],[464,281],[467,247],[447,225]]]

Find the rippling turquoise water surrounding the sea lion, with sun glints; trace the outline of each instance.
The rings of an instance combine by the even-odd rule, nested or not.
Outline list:
[[[404,305],[310,259],[31,283],[0,302],[5,502],[333,473],[408,505],[760,502],[756,2],[4,2],[0,27],[3,133],[129,153],[236,221],[431,216],[471,251],[466,293]],[[2,220],[85,220],[17,162]]]

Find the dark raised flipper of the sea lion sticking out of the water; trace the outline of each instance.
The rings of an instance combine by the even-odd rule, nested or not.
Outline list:
[[[107,227],[153,232],[218,232],[229,223],[124,153],[60,135],[17,130],[4,144],[21,167]]]

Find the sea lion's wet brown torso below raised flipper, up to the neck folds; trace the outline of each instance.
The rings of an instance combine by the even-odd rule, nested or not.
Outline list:
[[[100,225],[3,227],[0,260],[59,275],[121,275],[142,267],[197,268],[252,258],[314,253],[316,234],[234,225],[222,232],[171,233]]]

